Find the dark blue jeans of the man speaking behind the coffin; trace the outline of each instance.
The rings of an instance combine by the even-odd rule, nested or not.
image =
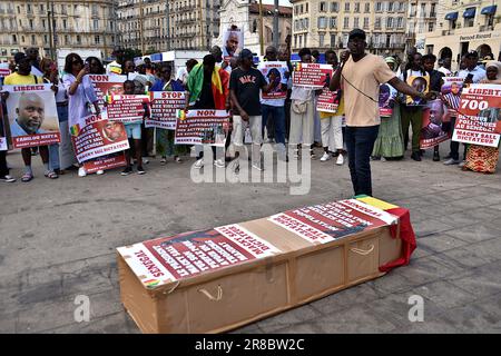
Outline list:
[[[372,196],[371,154],[380,126],[346,127],[346,149],[355,196]]]

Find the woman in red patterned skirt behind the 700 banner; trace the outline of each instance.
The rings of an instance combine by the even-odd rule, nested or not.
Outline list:
[[[485,66],[485,79],[481,81],[484,85],[501,85],[501,62],[489,61]],[[499,111],[497,118],[497,127],[501,126]],[[488,147],[480,145],[469,145],[466,152],[466,161],[462,167],[463,170],[473,170],[483,174],[493,174],[498,167],[499,145],[498,147]]]

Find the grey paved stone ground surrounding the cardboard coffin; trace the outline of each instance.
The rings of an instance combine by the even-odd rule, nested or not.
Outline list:
[[[39,158],[35,158],[39,161]],[[21,175],[21,157],[9,155]],[[154,160],[146,176],[0,185],[0,332],[139,333],[124,312],[115,248],[186,230],[348,198],[347,167],[312,162],[312,189],[285,184],[193,184],[188,165]],[[418,235],[411,264],[384,277],[236,333],[500,333],[501,177],[431,161],[373,162],[374,195],[407,207]],[[73,322],[77,295],[89,323]],[[410,323],[407,299],[424,298]]]

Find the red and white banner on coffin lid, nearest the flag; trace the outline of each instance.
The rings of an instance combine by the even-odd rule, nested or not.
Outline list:
[[[356,199],[315,205],[274,215],[269,221],[312,244],[326,244],[338,238],[396,224],[397,218]]]

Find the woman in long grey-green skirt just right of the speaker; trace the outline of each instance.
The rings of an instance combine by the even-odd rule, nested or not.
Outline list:
[[[384,60],[391,70],[395,71],[397,69],[394,57],[386,57]],[[379,160],[381,157],[384,157],[386,160],[403,158],[404,145],[400,120],[400,105],[394,102],[392,115],[381,119],[380,132],[372,151],[373,159]]]

